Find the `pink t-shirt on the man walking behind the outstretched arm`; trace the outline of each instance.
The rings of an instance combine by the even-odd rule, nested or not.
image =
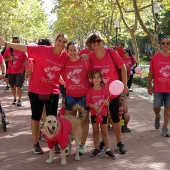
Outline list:
[[[10,58],[10,49],[8,48],[4,53],[4,58]],[[18,74],[24,72],[24,62],[27,61],[27,55],[25,52],[13,49],[14,60],[8,61],[7,73]]]

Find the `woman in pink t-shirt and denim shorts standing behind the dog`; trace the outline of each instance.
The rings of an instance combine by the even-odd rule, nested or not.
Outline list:
[[[78,56],[77,44],[69,42],[67,45],[67,53],[69,55],[63,70],[63,79],[66,86],[65,109],[66,114],[74,114],[72,108],[75,104],[83,106],[87,112],[87,118],[82,123],[83,136],[79,152],[84,154],[85,142],[89,131],[89,111],[86,108],[86,93],[91,87],[88,75],[92,72],[92,66],[89,60],[82,60]]]

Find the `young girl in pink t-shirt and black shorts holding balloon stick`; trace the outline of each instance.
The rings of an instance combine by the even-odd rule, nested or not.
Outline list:
[[[109,158],[115,158],[115,155],[110,150],[109,138],[107,133],[107,107],[109,106],[108,91],[102,86],[102,75],[100,71],[95,70],[91,76],[93,87],[88,90],[86,95],[86,106],[90,107],[91,122],[93,126],[93,140],[95,149],[92,153],[92,157],[100,155],[99,149],[99,123],[96,121],[96,115],[101,114],[103,120],[100,124],[102,139],[106,146],[105,156]]]

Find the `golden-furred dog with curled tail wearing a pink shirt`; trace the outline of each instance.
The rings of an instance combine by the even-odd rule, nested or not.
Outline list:
[[[80,105],[75,105],[73,111],[78,112],[78,116],[61,115],[47,116],[41,127],[42,133],[45,135],[48,147],[50,149],[50,157],[46,163],[51,163],[55,156],[55,144],[59,144],[61,148],[61,165],[66,165],[65,148],[68,145],[68,153],[71,154],[71,141],[74,138],[76,143],[75,160],[79,161],[79,144],[82,136],[82,121],[86,118],[86,111]]]

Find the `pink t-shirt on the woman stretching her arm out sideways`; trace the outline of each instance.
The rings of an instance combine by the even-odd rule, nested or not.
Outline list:
[[[67,59],[67,53],[54,55],[51,46],[27,46],[28,56],[34,59],[34,70],[30,77],[29,92],[37,94],[59,94],[59,78]]]

